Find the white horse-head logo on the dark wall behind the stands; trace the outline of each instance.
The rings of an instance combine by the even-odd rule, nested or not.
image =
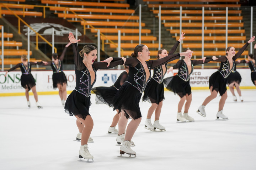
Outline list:
[[[75,33],[74,29],[70,29],[68,27],[64,27],[60,24],[54,24],[54,23],[33,23],[30,24],[30,27],[32,27],[36,32],[38,32],[41,35],[52,35],[52,28],[54,28],[54,35],[63,36],[64,34]],[[25,35],[27,35],[27,26],[25,26],[25,29],[23,29]],[[33,30],[30,29],[30,35],[36,35]],[[74,34],[75,35],[75,34]],[[82,34],[78,32],[78,36],[81,36]]]

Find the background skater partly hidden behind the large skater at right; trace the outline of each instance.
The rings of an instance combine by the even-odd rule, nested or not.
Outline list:
[[[240,83],[241,83],[241,75],[236,71],[236,64],[240,64],[240,63],[248,63],[246,60],[237,60],[235,61],[235,65],[234,65],[234,69],[232,70],[232,72],[229,74],[228,76],[228,86],[230,89],[230,92],[233,95],[233,101],[237,101],[237,98],[235,96],[235,92],[234,92],[234,87],[236,87],[236,91],[238,92],[239,98],[242,101],[244,101],[244,98],[242,97],[241,94],[241,89],[240,89]]]

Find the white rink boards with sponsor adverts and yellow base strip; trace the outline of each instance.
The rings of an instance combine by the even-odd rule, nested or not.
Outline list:
[[[94,87],[112,86],[123,71],[124,70],[98,70],[97,80]],[[190,85],[192,89],[208,89],[210,75],[216,71],[217,69],[194,69],[190,76]],[[255,86],[251,81],[250,69],[237,69],[237,71],[242,77],[240,87],[244,89],[254,89]],[[165,77],[175,75],[178,70],[175,69],[173,72],[174,73],[166,74]],[[67,91],[70,93],[75,89],[75,71],[64,70],[64,73],[68,80]],[[52,74],[52,71],[32,71],[32,75],[36,80],[36,89],[39,95],[58,94],[58,89],[53,89]],[[20,83],[20,71],[9,72],[6,77],[4,75],[5,72],[0,72],[0,96],[25,95],[25,90]]]

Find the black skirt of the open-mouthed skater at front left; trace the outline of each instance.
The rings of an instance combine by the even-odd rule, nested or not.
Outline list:
[[[85,119],[89,114],[89,108],[91,106],[91,96],[86,97],[80,94],[78,91],[73,90],[68,96],[65,103],[65,112],[70,116],[76,115],[79,118]]]

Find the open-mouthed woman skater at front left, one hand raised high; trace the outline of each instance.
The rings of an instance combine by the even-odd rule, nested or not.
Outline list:
[[[110,57],[103,62],[94,62],[97,58],[97,48],[95,46],[85,45],[79,52],[76,43],[80,40],[76,40],[72,33],[69,33],[69,40],[73,44],[76,87],[68,96],[64,109],[66,113],[69,113],[70,116],[75,115],[77,119],[78,129],[82,134],[79,158],[80,160],[81,158],[87,159],[87,162],[89,162],[89,159],[93,159],[87,148],[87,142],[93,128],[89,108],[91,106],[91,89],[96,81],[96,71],[123,64],[125,58]]]

